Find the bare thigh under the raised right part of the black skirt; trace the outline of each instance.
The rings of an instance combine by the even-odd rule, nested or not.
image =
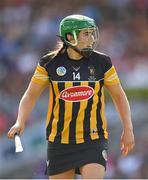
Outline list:
[[[90,163],[82,166],[80,172],[83,179],[103,179],[105,167],[98,163]]]

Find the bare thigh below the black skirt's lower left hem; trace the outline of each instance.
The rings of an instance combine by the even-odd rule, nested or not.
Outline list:
[[[49,176],[49,179],[74,179],[75,169],[71,169],[56,175]]]

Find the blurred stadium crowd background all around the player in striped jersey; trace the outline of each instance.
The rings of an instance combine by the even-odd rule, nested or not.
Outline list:
[[[106,113],[110,151],[106,178],[148,178],[148,0],[0,1],[0,178],[47,178],[45,118],[48,92],[38,101],[15,154],[7,131],[42,55],[56,46],[60,20],[70,14],[94,18],[98,50],[112,58],[132,109],[136,147],[120,155],[121,123],[110,98]]]

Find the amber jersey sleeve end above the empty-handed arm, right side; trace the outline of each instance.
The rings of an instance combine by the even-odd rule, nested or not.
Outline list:
[[[107,72],[104,74],[104,85],[111,86],[120,83],[119,77],[117,75],[116,69],[112,66]]]

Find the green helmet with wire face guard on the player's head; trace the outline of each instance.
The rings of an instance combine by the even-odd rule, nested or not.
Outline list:
[[[78,36],[82,30],[87,33],[87,38],[79,40]],[[73,42],[67,40],[68,34],[73,36]],[[99,30],[93,19],[82,15],[71,15],[61,21],[60,37],[69,47],[73,48],[83,56],[89,56],[98,44]],[[77,47],[78,44],[84,42],[91,42],[91,46],[86,48]]]

